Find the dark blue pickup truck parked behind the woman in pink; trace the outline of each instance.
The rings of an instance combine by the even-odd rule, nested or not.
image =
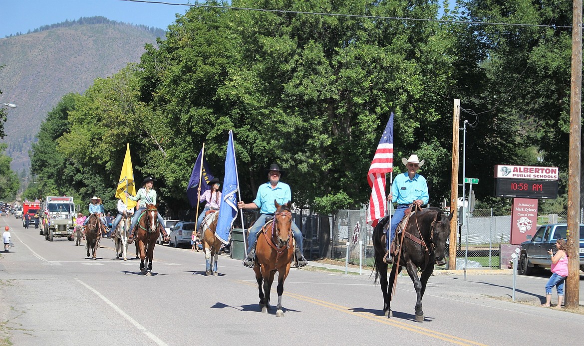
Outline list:
[[[527,242],[521,243],[517,272],[521,275],[529,275],[535,268],[550,268],[551,256],[549,249],[555,253],[555,241],[559,238],[566,239],[566,223],[550,223],[540,226],[536,233],[527,236]],[[584,270],[584,225],[580,224],[580,270]]]

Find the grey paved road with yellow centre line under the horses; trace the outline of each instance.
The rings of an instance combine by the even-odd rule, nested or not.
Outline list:
[[[139,261],[113,259],[110,240],[90,260],[84,247],[47,242],[19,222],[0,218],[15,243],[0,253],[0,345],[529,345],[583,335],[582,315],[510,302],[511,275],[434,275],[426,320],[416,323],[408,277],[398,279],[387,319],[369,275],[294,269],[281,318],[259,312],[253,271],[241,261],[221,256],[221,276],[206,277],[202,253],[157,246],[155,275],[145,277]],[[538,302],[546,279],[519,277],[517,298]]]

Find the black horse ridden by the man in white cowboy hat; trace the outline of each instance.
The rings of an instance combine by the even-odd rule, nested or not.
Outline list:
[[[381,278],[381,292],[383,293],[383,312],[388,318],[392,316],[391,299],[392,290],[397,274],[405,267],[416,289],[416,316],[415,320],[422,322],[422,297],[426,291],[426,284],[434,271],[434,264],[438,264],[446,257],[446,240],[450,235],[450,220],[454,213],[446,216],[440,208],[425,208],[420,211],[412,211],[406,229],[396,234],[394,241],[402,242],[401,256],[394,256],[394,264],[391,266],[390,281],[387,281],[388,264],[383,261],[385,257],[385,234],[391,232],[391,217],[385,216],[373,229],[373,247],[375,250],[374,271],[375,282]],[[422,270],[418,277],[418,268]]]

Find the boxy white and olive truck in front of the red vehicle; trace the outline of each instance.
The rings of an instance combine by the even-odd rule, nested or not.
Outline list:
[[[75,203],[73,197],[47,196],[40,205],[40,234],[52,242],[54,238],[66,237],[72,241],[75,229]]]

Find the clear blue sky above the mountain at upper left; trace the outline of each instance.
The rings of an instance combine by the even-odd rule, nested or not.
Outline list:
[[[164,0],[186,4],[187,0]],[[175,21],[175,13],[184,14],[188,6],[144,4],[120,0],[0,0],[0,38],[49,24],[104,16],[119,22],[166,29]]]

